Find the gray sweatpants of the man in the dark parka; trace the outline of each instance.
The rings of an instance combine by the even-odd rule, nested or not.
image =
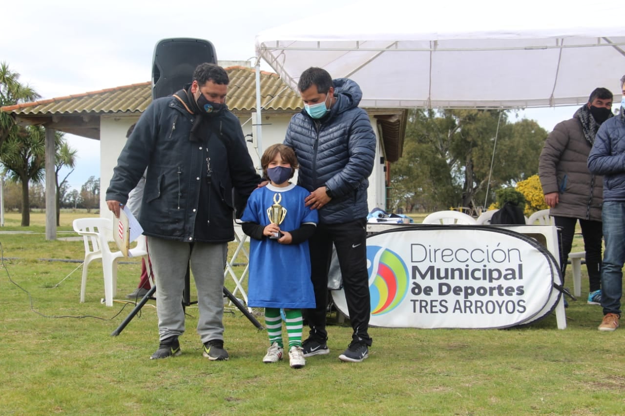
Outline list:
[[[197,289],[197,334],[202,344],[224,339],[224,267],[227,243],[187,243],[148,237],[156,283],[159,339],[184,332],[183,290],[187,264]]]

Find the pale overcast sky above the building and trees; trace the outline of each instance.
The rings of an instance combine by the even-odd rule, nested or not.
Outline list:
[[[154,46],[161,39],[207,39],[216,47],[219,60],[253,62],[258,32],[324,10],[327,19],[311,21],[311,26],[341,24],[349,16],[333,16],[332,8],[353,2],[6,1],[2,4],[0,62],[19,72],[20,81],[34,87],[43,99],[80,94],[150,81]],[[262,69],[270,67],[264,64]],[[531,109],[521,116],[536,119],[551,131],[574,111],[575,107]],[[99,141],[66,137],[79,157],[68,181],[80,189],[89,176],[100,176]],[[101,186],[106,189],[108,184]]]

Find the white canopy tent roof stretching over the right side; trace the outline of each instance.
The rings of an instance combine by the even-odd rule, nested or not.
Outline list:
[[[547,107],[618,96],[622,6],[587,0],[362,0],[261,32],[291,87],[310,66],[362,87],[362,107]],[[616,101],[616,97],[615,97]]]

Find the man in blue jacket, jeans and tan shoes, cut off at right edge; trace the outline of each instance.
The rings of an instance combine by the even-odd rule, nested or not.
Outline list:
[[[603,175],[601,220],[606,250],[601,267],[600,331],[619,327],[622,267],[625,263],[625,76],[621,78],[621,114],[601,124],[588,154],[588,169]]]

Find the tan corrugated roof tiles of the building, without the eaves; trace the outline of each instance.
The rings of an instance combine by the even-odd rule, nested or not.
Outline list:
[[[232,66],[226,71],[230,78],[226,102],[235,114],[256,109],[256,74],[254,69]],[[271,72],[261,72],[261,105],[264,112],[301,110],[301,97]],[[277,97],[274,99],[274,97]],[[16,116],[55,114],[113,114],[143,112],[152,102],[151,82],[85,92],[41,101],[2,107]],[[267,102],[269,104],[267,104]]]

